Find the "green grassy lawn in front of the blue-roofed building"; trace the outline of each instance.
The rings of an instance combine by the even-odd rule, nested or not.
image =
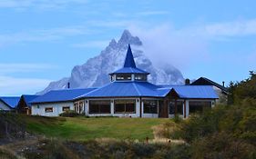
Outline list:
[[[47,137],[83,141],[94,138],[144,140],[153,138],[152,126],[169,119],[151,118],[86,118],[24,116],[31,132]]]

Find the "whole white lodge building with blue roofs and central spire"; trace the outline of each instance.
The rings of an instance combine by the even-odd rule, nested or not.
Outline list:
[[[124,66],[109,74],[109,84],[50,91],[30,102],[31,114],[57,116],[74,110],[88,116],[186,118],[219,98],[211,85],[156,85],[148,82],[149,74],[136,66],[128,45]]]

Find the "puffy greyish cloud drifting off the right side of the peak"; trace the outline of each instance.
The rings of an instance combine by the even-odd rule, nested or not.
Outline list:
[[[159,25],[151,29],[130,28],[141,39],[145,54],[157,65],[174,65],[184,68],[193,62],[207,59],[207,43],[192,35],[181,34],[171,25]]]

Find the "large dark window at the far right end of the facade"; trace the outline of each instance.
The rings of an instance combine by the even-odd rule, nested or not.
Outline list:
[[[189,113],[202,112],[203,109],[210,107],[210,101],[189,101]]]

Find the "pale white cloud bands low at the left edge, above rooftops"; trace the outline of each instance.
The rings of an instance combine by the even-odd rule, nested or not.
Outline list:
[[[0,64],[0,95],[35,94],[52,80],[35,77],[20,77],[57,68],[48,64]]]

